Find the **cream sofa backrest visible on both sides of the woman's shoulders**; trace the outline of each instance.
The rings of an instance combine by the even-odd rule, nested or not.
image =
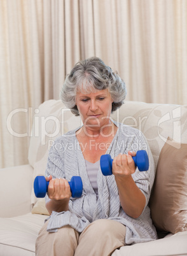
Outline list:
[[[55,138],[81,125],[62,102],[45,101],[34,116],[29,146],[29,164],[35,174],[44,174],[48,150]],[[139,129],[148,139],[155,168],[160,151],[168,137],[187,143],[187,106],[126,101],[111,115],[117,122]]]

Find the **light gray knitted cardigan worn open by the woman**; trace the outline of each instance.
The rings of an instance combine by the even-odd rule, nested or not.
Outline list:
[[[146,206],[139,218],[128,216],[120,204],[118,187],[114,175],[104,176],[99,167],[97,172],[98,199],[90,183],[83,153],[81,152],[76,131],[74,129],[57,138],[50,148],[46,176],[53,178],[66,178],[81,176],[83,181],[83,194],[80,198],[71,198],[69,211],[52,212],[48,222],[47,231],[55,232],[58,228],[71,225],[76,231],[82,232],[87,225],[97,219],[107,218],[116,220],[126,226],[125,243],[131,245],[152,241],[157,238],[148,207],[149,196],[155,178],[153,156],[144,135],[137,129],[114,122],[118,126],[111,145],[106,153],[114,158],[119,153],[128,153],[128,150],[144,149],[148,152],[149,169],[140,172],[136,169],[132,174],[137,187],[146,197]],[[48,201],[46,194],[46,201]]]

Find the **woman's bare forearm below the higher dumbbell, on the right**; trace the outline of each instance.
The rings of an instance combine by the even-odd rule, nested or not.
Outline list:
[[[115,176],[118,186],[120,203],[128,216],[138,218],[146,204],[146,197],[135,184],[132,176],[119,177]]]

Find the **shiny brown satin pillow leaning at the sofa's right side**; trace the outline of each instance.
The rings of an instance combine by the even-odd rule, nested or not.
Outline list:
[[[167,139],[158,160],[150,208],[157,229],[173,234],[187,231],[187,144]]]

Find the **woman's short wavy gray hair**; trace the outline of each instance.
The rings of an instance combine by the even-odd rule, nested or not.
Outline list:
[[[127,94],[125,83],[118,73],[113,72],[101,59],[90,57],[78,62],[66,76],[60,91],[60,99],[74,115],[78,116],[80,114],[76,106],[76,92],[89,94],[104,89],[109,90],[114,101],[111,112],[120,108]]]

